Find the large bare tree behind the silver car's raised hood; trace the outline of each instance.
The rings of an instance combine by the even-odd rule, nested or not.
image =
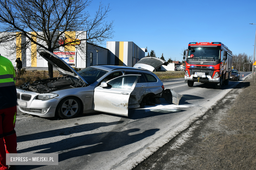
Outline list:
[[[112,38],[114,33],[113,21],[105,21],[110,11],[109,5],[99,4],[94,17],[91,17],[86,10],[91,2],[0,0],[0,44],[10,45],[15,42],[11,45],[12,54],[21,53],[36,44],[37,49],[43,48],[50,52],[61,47],[75,47],[83,54],[81,56],[86,56],[86,42],[99,45]],[[67,31],[74,31],[75,34],[66,34]],[[25,37],[25,42],[16,42],[17,37]],[[50,77],[53,77],[53,66],[50,63],[48,70]]]

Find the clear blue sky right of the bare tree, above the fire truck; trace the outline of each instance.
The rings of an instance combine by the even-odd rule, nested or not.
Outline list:
[[[90,6],[91,16],[100,1]],[[114,38],[106,41],[133,41],[140,48],[165,60],[182,60],[189,42],[222,42],[233,54],[253,56],[256,25],[255,0],[103,0],[112,9]],[[104,42],[106,43],[106,42]],[[106,45],[102,45],[106,47]]]

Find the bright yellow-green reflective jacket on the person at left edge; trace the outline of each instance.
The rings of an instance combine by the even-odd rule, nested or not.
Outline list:
[[[11,61],[0,56],[0,87],[14,86],[15,83],[15,70]]]

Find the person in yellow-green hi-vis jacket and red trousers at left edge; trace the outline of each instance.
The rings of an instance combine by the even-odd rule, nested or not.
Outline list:
[[[7,170],[6,153],[17,153],[14,130],[17,112],[15,70],[11,61],[0,54],[0,170]]]

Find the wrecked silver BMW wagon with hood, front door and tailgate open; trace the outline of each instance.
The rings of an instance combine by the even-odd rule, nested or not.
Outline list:
[[[24,113],[63,119],[96,111],[128,116],[128,109],[155,105],[160,97],[175,104],[182,97],[164,90],[161,80],[152,73],[168,64],[158,58],[143,58],[134,67],[96,65],[76,72],[53,53],[44,49],[38,53],[63,76],[17,87],[18,108]]]

